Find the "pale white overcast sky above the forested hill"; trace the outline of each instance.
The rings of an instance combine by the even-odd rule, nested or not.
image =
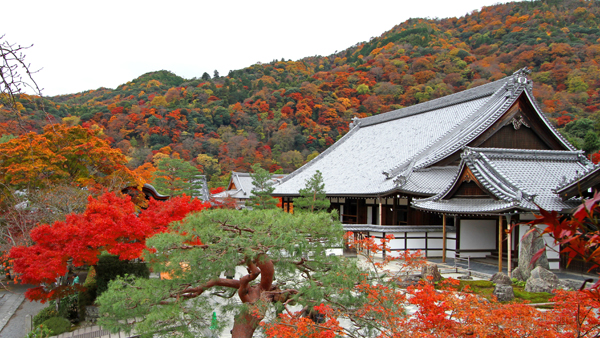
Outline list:
[[[502,1],[506,2],[506,1]],[[330,55],[409,18],[460,17],[498,0],[27,1],[0,35],[33,45],[46,96],[120,84],[156,70],[187,79],[256,62]],[[7,10],[11,6],[4,6]]]

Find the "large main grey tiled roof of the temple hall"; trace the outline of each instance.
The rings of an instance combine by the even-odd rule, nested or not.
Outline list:
[[[520,96],[526,71],[460,93],[363,119],[315,159],[281,181],[275,196],[297,196],[317,170],[329,196],[406,192],[431,196],[451,183],[454,167],[433,164],[456,154],[492,126]],[[574,150],[531,100],[535,113],[564,149]]]

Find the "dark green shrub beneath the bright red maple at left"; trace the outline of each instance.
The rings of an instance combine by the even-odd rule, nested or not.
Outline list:
[[[122,261],[118,256],[103,254],[96,265],[96,293],[100,296],[108,289],[110,281],[118,276],[132,275],[140,278],[150,277],[146,263]]]

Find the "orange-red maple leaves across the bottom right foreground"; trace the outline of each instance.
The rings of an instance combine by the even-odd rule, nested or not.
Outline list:
[[[377,269],[378,276],[395,259],[374,259],[389,247],[391,238],[357,238],[348,240],[366,255],[365,260]],[[367,249],[369,250],[367,254]],[[376,250],[376,251],[373,251]],[[412,266],[408,256],[408,266]],[[373,261],[373,262],[371,262]],[[377,264],[374,262],[377,261]],[[414,261],[413,261],[414,262]],[[417,264],[418,265],[418,264]],[[412,266],[413,268],[415,266]],[[596,289],[585,291],[556,290],[551,309],[538,309],[527,302],[500,303],[483,298],[468,287],[461,288],[454,279],[440,283],[423,280],[400,288],[402,275],[387,274],[373,282],[364,279],[354,292],[366,297],[357,306],[339,306],[335,298],[315,306],[319,320],[302,311],[287,311],[277,321],[265,324],[268,337],[596,337],[600,334]],[[341,324],[345,323],[345,324]]]

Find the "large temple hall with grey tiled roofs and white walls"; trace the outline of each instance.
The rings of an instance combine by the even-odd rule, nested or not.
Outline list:
[[[576,187],[587,191],[600,183],[600,171],[545,117],[527,75],[522,69],[355,119],[344,137],[283,178],[273,195],[289,209],[319,170],[345,229],[392,233],[392,250],[501,257],[510,247],[515,257],[524,229],[513,232],[508,246],[508,222],[533,219],[537,205],[569,213],[581,203]],[[558,268],[558,255],[548,258]]]

